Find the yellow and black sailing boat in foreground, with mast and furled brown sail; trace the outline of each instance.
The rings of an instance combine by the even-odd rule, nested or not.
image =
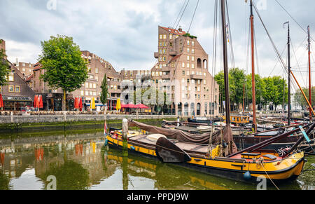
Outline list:
[[[221,132],[219,135],[211,134],[209,137],[209,134],[192,135],[181,130],[168,130],[136,121],[129,121],[129,126],[135,126],[146,132],[151,132],[153,135],[131,135],[127,138],[127,149],[130,153],[139,156],[157,158],[164,163],[173,163],[184,168],[192,168],[211,175],[240,181],[253,182],[256,181],[257,177],[267,177],[267,180],[272,181],[296,179],[302,172],[304,152],[294,152],[294,149],[290,149],[290,152],[279,156],[276,151],[261,151],[260,149],[288,135],[304,132],[305,128],[307,128],[307,132],[304,133],[308,135],[314,129],[315,123],[305,125],[304,129],[295,129],[242,151],[237,151],[230,128],[225,0],[221,0],[221,15],[223,23],[225,96],[227,99],[226,107],[228,107],[225,109],[227,123],[224,132]],[[123,149],[123,138],[120,131],[111,131],[106,138],[110,147]],[[302,140],[299,142],[302,142]]]

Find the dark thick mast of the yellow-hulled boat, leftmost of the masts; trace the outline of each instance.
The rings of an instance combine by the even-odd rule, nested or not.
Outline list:
[[[222,29],[223,29],[223,65],[225,86],[225,118],[226,125],[230,126],[230,92],[229,92],[229,70],[228,70],[228,45],[225,20],[225,0],[221,0]]]

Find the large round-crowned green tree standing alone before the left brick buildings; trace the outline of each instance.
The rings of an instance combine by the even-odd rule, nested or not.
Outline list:
[[[64,97],[62,110],[66,110],[66,92],[72,92],[82,86],[87,79],[87,63],[81,57],[79,46],[69,36],[51,36],[41,42],[42,52],[39,62],[45,69],[41,76],[51,88],[62,88]]]

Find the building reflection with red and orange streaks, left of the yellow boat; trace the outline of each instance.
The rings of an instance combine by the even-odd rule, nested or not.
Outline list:
[[[0,168],[12,179],[20,177],[28,169],[34,169],[36,177],[41,178],[50,170],[52,163],[62,166],[65,159],[82,165],[89,172],[90,185],[99,184],[102,178],[109,176],[102,162],[104,136],[99,137],[95,133],[30,137],[13,141],[10,146],[3,144],[10,143],[6,140],[0,142]]]

